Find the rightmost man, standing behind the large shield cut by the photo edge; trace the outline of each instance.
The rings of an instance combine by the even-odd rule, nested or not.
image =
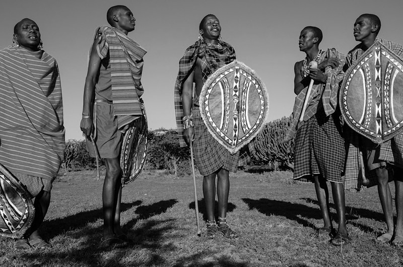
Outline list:
[[[400,44],[383,40],[377,37],[381,28],[378,16],[373,14],[363,14],[354,23],[354,38],[359,41],[346,56],[345,70],[357,62],[361,55],[374,44],[376,40],[383,43],[389,50],[403,58],[403,46]],[[370,180],[374,178],[378,183],[378,194],[385,216],[387,231],[377,237],[381,243],[390,242],[393,245],[403,245],[403,135],[400,133],[391,140],[381,145],[371,142],[358,133],[346,127],[346,142],[348,143],[348,155],[346,163],[346,189],[359,189],[359,150],[363,153],[364,164]],[[389,189],[388,165],[392,164],[394,169],[395,183],[395,205],[397,211],[396,227],[393,223],[392,197]],[[372,184],[370,184],[372,185]]]

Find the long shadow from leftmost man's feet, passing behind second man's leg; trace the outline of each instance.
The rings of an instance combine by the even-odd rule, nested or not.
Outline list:
[[[129,210],[135,206],[141,205],[141,201],[135,201],[132,203],[122,203],[120,205],[121,212]],[[68,217],[57,218],[50,221],[44,221],[41,229],[46,229],[46,233],[43,233],[44,238],[52,238],[53,236],[77,228],[82,228],[89,223],[96,222],[102,218],[102,209],[80,212]]]

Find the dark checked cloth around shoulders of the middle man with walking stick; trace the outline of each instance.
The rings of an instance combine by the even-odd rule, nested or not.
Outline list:
[[[193,45],[189,46],[182,58],[179,60],[179,72],[175,82],[175,117],[176,125],[178,128],[179,144],[180,147],[186,147],[183,138],[183,107],[182,107],[182,86],[183,82],[191,74],[194,69],[196,59],[201,61],[201,73],[203,75],[203,83],[208,77],[222,66],[231,63],[236,59],[234,48],[226,43],[220,42],[222,49],[207,48],[204,40],[198,40]]]

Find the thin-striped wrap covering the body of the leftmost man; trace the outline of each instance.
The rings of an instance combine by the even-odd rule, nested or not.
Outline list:
[[[65,147],[55,59],[43,50],[1,50],[0,101],[0,163],[14,173],[53,179]]]

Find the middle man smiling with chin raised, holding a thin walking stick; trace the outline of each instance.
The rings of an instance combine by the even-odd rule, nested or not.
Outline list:
[[[226,223],[229,172],[236,172],[239,152],[231,155],[210,134],[199,113],[199,101],[203,84],[209,75],[235,59],[234,48],[221,41],[220,21],[207,15],[199,25],[199,40],[189,46],[179,61],[179,73],[175,84],[175,110],[181,147],[193,142],[194,159],[203,178],[203,193],[207,211],[207,237],[214,238],[221,232],[225,237],[238,234]],[[195,83],[194,97],[192,85]],[[218,224],[214,206],[218,195]]]

